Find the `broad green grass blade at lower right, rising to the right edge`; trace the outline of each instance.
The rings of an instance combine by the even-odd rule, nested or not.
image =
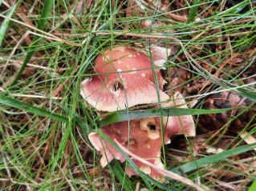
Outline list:
[[[256,148],[256,143],[250,145],[242,145],[234,149],[229,149],[221,153],[213,154],[209,157],[203,157],[197,161],[191,161],[185,165],[181,165],[177,168],[172,169],[174,173],[189,173],[195,169],[198,169],[204,165],[210,165],[214,162],[221,161],[227,157],[234,156],[235,154],[245,153]]]

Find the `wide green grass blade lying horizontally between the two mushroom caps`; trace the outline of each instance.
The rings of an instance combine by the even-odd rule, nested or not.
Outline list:
[[[109,125],[120,121],[128,121],[133,119],[140,119],[144,117],[156,117],[156,116],[181,116],[181,115],[199,115],[209,113],[221,113],[226,112],[234,108],[225,109],[181,109],[181,108],[162,108],[162,109],[145,109],[135,111],[123,111],[120,113],[114,113],[111,116],[100,121],[100,126]]]

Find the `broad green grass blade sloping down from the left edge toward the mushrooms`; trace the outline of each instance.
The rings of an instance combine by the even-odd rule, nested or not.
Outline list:
[[[10,107],[22,109],[26,112],[39,114],[39,115],[42,115],[44,117],[49,117],[49,118],[55,119],[57,121],[63,121],[63,122],[66,122],[66,123],[68,123],[68,121],[69,121],[67,117],[63,117],[63,116],[57,115],[55,113],[51,113],[47,110],[40,109],[38,107],[26,104],[25,102],[18,101],[16,99],[13,99],[13,98],[10,98],[10,97],[5,97],[5,96],[0,95],[0,103],[2,103],[4,105],[8,105]]]

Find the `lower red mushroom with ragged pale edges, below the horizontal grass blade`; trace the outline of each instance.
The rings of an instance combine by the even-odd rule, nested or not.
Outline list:
[[[175,100],[170,100],[167,103],[161,104],[162,107],[187,108],[185,99],[181,94],[176,93],[173,95]],[[156,106],[154,106],[156,107]],[[175,134],[186,134],[188,137],[195,136],[195,125],[192,116],[171,116],[162,118],[162,133],[164,134],[164,143],[168,144],[170,137]],[[127,147],[132,153],[138,157],[151,162],[152,164],[164,169],[164,165],[161,162],[161,146],[163,141],[161,138],[161,118],[160,117],[145,117],[142,119],[136,119],[132,121],[122,121],[114,123],[112,125],[105,125],[102,128],[112,141],[116,140],[121,145]],[[125,161],[125,158],[114,148],[112,145],[101,139],[97,133],[90,133],[89,140],[94,145],[95,149],[100,151],[102,157],[100,159],[100,165],[103,167],[108,165],[108,162],[114,158]],[[157,181],[164,181],[162,174],[155,169],[151,169],[148,165],[144,165],[140,161],[131,158],[135,165],[148,174],[150,177]],[[127,170],[129,176],[136,175],[136,173],[129,169]]]

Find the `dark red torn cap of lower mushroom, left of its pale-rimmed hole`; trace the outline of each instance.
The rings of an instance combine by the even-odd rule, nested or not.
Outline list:
[[[153,118],[146,118],[144,122],[152,122]],[[161,162],[161,137],[150,137],[146,130],[141,127],[140,120],[132,120],[130,123],[128,121],[118,122],[112,125],[106,125],[102,128],[103,133],[105,133],[112,141],[120,142],[121,145],[128,148],[132,153],[139,157],[144,158],[144,160],[157,165],[159,168],[164,169],[164,165]],[[156,129],[160,131],[160,129]],[[100,165],[103,167],[108,165],[108,162],[112,161],[114,158],[122,162],[125,158],[114,148],[112,145],[99,137],[97,133],[90,133],[89,140],[91,144],[94,145],[95,149],[100,151],[102,157],[100,159]],[[162,179],[162,174],[158,173],[155,169],[152,169],[148,165],[144,165],[142,162],[137,161],[131,157],[131,160],[138,166],[138,168],[147,173],[150,177],[156,180]],[[132,169],[127,170],[129,176],[137,175]]]

